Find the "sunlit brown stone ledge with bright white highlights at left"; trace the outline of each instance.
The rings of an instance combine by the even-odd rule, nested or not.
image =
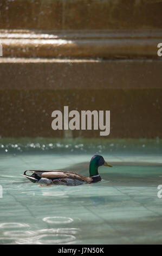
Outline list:
[[[3,57],[157,58],[162,29],[0,31]]]

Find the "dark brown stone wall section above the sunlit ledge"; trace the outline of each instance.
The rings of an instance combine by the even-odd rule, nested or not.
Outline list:
[[[3,0],[2,29],[161,28],[161,0]]]

